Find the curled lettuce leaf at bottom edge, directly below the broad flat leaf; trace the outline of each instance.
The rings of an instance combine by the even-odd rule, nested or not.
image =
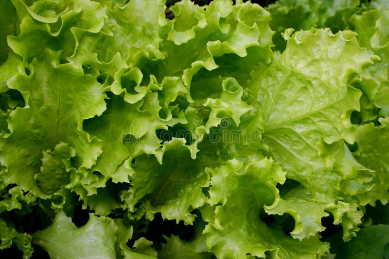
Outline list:
[[[246,166],[229,161],[212,171],[210,208],[201,209],[209,222],[204,233],[207,246],[217,258],[246,258],[247,254],[265,258],[317,258],[328,251],[318,237],[299,241],[266,226],[260,219],[264,205],[279,199],[277,183],[285,172],[269,159],[250,161]]]

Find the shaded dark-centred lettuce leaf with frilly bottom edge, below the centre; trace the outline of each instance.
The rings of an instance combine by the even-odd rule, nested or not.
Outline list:
[[[206,200],[202,191],[209,186],[206,167],[217,162],[206,155],[193,160],[190,149],[184,139],[173,138],[162,147],[162,164],[144,155],[136,157],[131,177],[134,187],[122,194],[124,205],[135,212],[138,202],[146,199],[141,206],[147,218],[152,219],[154,213],[160,212],[165,219],[192,224],[195,215],[190,212]]]

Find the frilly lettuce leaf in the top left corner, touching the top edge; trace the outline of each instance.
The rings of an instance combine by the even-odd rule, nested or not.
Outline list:
[[[8,45],[25,61],[45,55],[45,49],[63,50],[60,60],[73,55],[79,43],[77,36],[99,32],[107,18],[100,3],[89,0],[35,1],[27,6],[12,0],[20,20],[20,33],[8,37]],[[71,7],[71,8],[70,8]],[[29,48],[25,48],[25,43]]]

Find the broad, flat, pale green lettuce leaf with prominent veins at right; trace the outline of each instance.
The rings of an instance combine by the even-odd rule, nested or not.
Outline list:
[[[346,82],[352,71],[360,71],[371,62],[354,35],[333,35],[328,30],[296,32],[281,57],[262,70],[252,84],[263,109],[263,138],[271,154],[288,177],[314,193],[328,192],[322,188],[323,179],[332,181],[330,185],[337,181],[326,172],[318,154],[319,140],[354,141],[355,129],[348,116],[359,109],[360,92]],[[321,51],[314,47],[318,42],[326,46]]]

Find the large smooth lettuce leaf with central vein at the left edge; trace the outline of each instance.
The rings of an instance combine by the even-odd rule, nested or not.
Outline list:
[[[7,167],[4,181],[40,196],[48,191],[41,190],[34,180],[42,166],[43,151],[64,142],[75,150],[74,166],[90,168],[101,147],[82,130],[82,121],[106,109],[105,95],[94,77],[57,65],[56,52],[47,51],[46,55],[44,62],[32,61],[31,74],[20,71],[8,81],[10,88],[23,95],[26,106],[10,113],[11,133],[0,140],[0,161]]]

